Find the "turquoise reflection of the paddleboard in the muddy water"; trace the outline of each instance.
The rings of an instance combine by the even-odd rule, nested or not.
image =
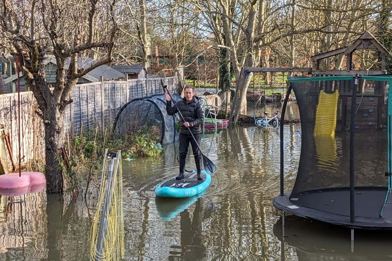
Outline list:
[[[176,215],[198,200],[204,193],[200,193],[190,198],[160,198],[155,197],[155,206],[158,215],[163,221],[169,221]]]

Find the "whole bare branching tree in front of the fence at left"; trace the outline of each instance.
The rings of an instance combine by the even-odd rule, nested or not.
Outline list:
[[[115,1],[31,0],[20,5],[17,0],[2,0],[1,29],[9,43],[3,47],[19,57],[20,70],[39,105],[36,113],[45,126],[48,193],[63,191],[58,166],[64,146],[64,113],[72,103],[71,92],[80,77],[112,60],[117,31]],[[97,10],[101,11],[99,16]],[[101,32],[100,40],[96,40],[94,31]],[[105,58],[83,68],[80,54],[93,48],[102,51]],[[45,78],[47,59],[56,61],[54,86]]]

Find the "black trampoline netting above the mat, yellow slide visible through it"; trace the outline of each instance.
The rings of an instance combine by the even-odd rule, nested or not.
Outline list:
[[[354,80],[303,81],[290,85],[298,102],[302,129],[298,174],[290,200],[294,203],[301,195],[350,185],[351,127],[355,128],[355,185],[386,187],[384,92],[388,84],[359,80],[354,126],[350,126]]]

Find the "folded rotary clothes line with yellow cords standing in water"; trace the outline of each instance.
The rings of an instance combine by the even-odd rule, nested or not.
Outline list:
[[[108,160],[103,157],[97,211],[91,225],[91,260],[124,258],[123,184],[121,151]],[[113,155],[114,156],[114,155]]]

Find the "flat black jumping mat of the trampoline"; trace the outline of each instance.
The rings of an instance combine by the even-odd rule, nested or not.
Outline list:
[[[355,216],[379,218],[387,194],[386,187],[363,187],[355,190]],[[350,216],[349,188],[304,191],[290,196],[295,205]]]

